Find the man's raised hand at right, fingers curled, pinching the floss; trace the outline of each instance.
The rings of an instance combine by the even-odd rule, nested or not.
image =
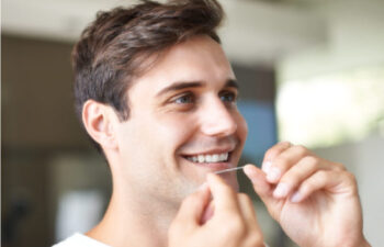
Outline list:
[[[244,169],[272,217],[298,246],[369,246],[357,182],[341,164],[285,142],[267,151],[262,170]]]

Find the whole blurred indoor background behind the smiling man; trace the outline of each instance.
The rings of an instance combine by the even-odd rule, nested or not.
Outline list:
[[[70,52],[98,10],[133,2],[2,1],[2,246],[50,246],[100,220],[111,177],[75,116]],[[242,162],[291,141],[345,164],[358,178],[365,236],[383,246],[384,1],[221,2],[250,128]],[[255,205],[267,243],[295,246]]]

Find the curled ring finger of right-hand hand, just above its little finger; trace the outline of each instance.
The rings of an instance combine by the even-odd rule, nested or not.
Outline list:
[[[287,170],[280,179],[279,184],[273,191],[273,197],[283,199],[292,193],[305,179],[310,177],[319,169],[325,169],[321,160],[314,156],[306,156],[295,166]]]

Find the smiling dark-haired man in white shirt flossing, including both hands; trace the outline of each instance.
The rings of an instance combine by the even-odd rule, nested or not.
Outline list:
[[[247,136],[215,32],[222,16],[215,0],[145,1],[99,13],[83,32],[74,49],[77,110],[113,193],[100,224],[58,246],[264,246],[235,172],[213,175],[238,165]],[[262,170],[244,170],[297,245],[369,246],[342,165],[284,142]]]

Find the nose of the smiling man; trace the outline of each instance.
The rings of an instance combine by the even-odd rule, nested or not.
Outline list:
[[[229,109],[219,99],[206,102],[201,114],[201,131],[208,136],[228,136],[236,132],[236,109]]]

